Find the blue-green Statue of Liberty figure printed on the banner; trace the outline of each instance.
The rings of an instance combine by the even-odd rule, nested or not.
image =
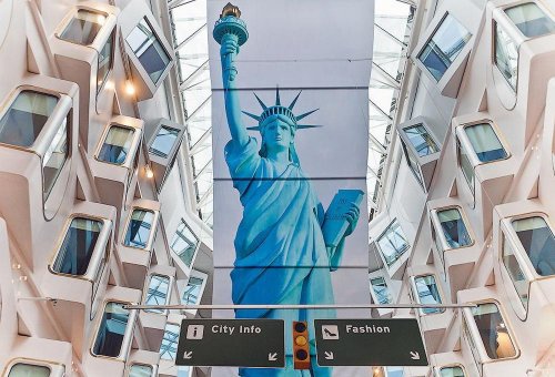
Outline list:
[[[294,115],[300,93],[289,106],[281,104],[279,91],[272,106],[256,96],[262,114],[244,113],[258,121],[256,126],[249,129],[260,131],[262,142],[259,144],[255,137],[248,134],[241,119],[239,91],[235,90],[238,70],[234,58],[248,39],[246,27],[239,14],[235,7],[228,4],[214,28],[214,38],[221,44],[225,113],[231,131],[231,141],[225,145],[224,154],[243,206],[231,273],[233,303],[334,304],[331,271],[339,267],[343,241],[356,226],[359,205],[347,203],[342,216],[345,228],[340,234],[339,243],[326,247],[323,231],[326,230],[326,213],[295,152],[295,133],[313,128],[299,124],[299,121],[315,111]],[[337,232],[329,228],[330,232]],[[311,356],[310,370],[293,369],[290,327],[293,320],[307,320],[313,345],[313,320],[334,317],[334,310],[248,309],[236,310],[235,316],[285,319],[289,336],[285,369],[242,368],[241,376],[332,375],[331,368],[317,366],[314,355]]]

